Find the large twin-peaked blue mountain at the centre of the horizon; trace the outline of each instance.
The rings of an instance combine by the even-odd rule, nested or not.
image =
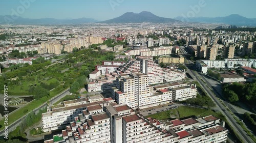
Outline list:
[[[164,18],[156,16],[155,14],[147,11],[142,11],[141,13],[126,12],[123,15],[110,19],[101,21],[100,23],[141,23],[141,22],[151,22],[151,23],[167,23],[176,22],[172,18]]]

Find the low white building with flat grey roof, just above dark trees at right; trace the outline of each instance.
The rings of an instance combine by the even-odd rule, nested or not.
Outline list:
[[[223,83],[244,82],[244,81],[246,81],[246,79],[242,76],[237,75],[237,74],[233,74],[231,72],[226,72],[224,74],[221,74],[221,81]]]

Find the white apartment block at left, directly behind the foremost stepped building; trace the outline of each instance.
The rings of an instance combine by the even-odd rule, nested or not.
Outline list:
[[[42,113],[42,131],[65,128],[70,122],[79,117],[81,120],[89,119],[91,115],[103,112],[103,106],[114,103],[113,99],[104,100],[101,96],[93,96],[86,99],[64,101],[48,107],[46,113]]]

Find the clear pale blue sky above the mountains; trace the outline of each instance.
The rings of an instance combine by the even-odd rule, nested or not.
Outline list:
[[[1,0],[0,15],[24,18],[94,18],[108,20],[125,12],[150,11],[166,18],[239,14],[256,18],[256,1],[234,0]]]

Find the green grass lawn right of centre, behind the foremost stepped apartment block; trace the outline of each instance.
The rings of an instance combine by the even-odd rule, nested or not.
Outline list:
[[[212,110],[195,108],[195,107],[187,107],[187,106],[180,106],[177,109],[162,111],[159,113],[155,113],[153,115],[149,115],[147,117],[151,117],[151,118],[158,119],[158,120],[164,120],[164,119],[169,119],[170,114],[173,114],[174,112],[179,113],[179,118],[186,118],[186,117],[192,117],[192,116],[204,117],[204,116],[209,116],[209,115],[213,115],[220,119],[223,119],[223,117],[224,117],[221,113],[217,113]]]

